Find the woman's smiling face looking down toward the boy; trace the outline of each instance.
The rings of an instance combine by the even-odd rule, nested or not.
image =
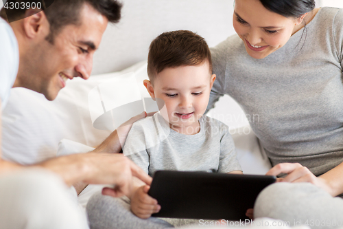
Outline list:
[[[283,47],[303,21],[303,17],[287,18],[267,10],[259,0],[236,0],[234,10],[233,27],[246,52],[257,59]]]

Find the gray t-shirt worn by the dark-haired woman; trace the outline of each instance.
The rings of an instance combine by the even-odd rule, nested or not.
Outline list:
[[[273,165],[299,162],[320,175],[343,162],[342,9],[320,9],[263,59],[250,57],[237,35],[211,52],[217,79],[208,109],[233,97]]]

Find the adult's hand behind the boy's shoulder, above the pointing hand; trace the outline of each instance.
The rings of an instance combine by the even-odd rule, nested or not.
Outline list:
[[[126,141],[126,137],[132,127],[134,122],[141,120],[142,118],[146,118],[147,116],[153,116],[153,113],[146,113],[145,111],[140,113],[138,116],[134,116],[130,118],[128,121],[121,124],[115,131],[113,131],[102,144],[97,146],[97,148],[93,152],[101,152],[101,153],[119,153],[121,151],[121,147]]]

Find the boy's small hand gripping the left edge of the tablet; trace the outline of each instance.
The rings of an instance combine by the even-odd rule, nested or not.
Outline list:
[[[131,210],[141,219],[147,219],[161,210],[157,200],[147,195],[149,189],[150,186],[147,185],[137,188],[131,199]]]

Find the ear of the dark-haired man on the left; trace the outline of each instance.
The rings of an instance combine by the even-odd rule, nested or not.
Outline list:
[[[36,36],[40,36],[43,32],[43,36],[49,34],[49,22],[45,13],[41,10],[29,9],[25,12],[25,18],[23,19],[23,29],[25,35],[29,39],[34,39]]]

